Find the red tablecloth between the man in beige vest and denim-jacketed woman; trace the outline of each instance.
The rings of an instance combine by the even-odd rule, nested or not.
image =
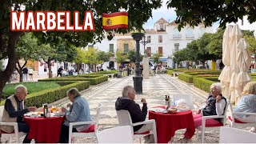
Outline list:
[[[26,124],[30,126],[29,139],[36,139],[37,142],[54,143],[58,142],[62,128],[62,117],[51,118],[24,118]]]

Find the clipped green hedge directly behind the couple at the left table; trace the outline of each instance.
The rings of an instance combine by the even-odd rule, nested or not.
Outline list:
[[[70,88],[77,88],[79,91],[86,90],[90,86],[90,82],[73,82],[69,85],[56,87],[53,89],[42,90],[37,93],[28,94],[26,96],[26,106],[41,107],[44,103],[56,102],[59,99],[66,98],[66,91]],[[2,101],[0,105],[4,105],[5,101]]]

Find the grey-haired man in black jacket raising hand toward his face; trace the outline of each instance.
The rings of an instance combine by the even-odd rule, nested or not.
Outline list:
[[[133,123],[143,122],[145,121],[147,114],[146,100],[142,98],[141,102],[143,103],[143,106],[141,110],[139,105],[136,102],[134,102],[134,98],[134,88],[132,86],[125,86],[122,90],[122,97],[118,98],[115,102],[115,109],[128,110]],[[152,130],[152,128],[152,124],[134,126],[134,132],[143,133]],[[154,142],[154,137],[152,134],[150,136],[146,136],[144,139],[145,142]]]

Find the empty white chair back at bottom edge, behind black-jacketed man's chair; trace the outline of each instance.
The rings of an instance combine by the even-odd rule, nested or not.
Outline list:
[[[98,143],[133,143],[130,126],[118,126],[102,130],[96,134]]]

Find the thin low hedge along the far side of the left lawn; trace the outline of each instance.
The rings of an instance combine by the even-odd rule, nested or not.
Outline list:
[[[54,82],[54,81],[89,81],[90,85],[98,85],[99,83],[106,82],[108,77],[106,75],[101,75],[96,78],[83,78],[80,76],[76,77],[63,77],[63,78],[46,78],[39,79],[38,82]]]

